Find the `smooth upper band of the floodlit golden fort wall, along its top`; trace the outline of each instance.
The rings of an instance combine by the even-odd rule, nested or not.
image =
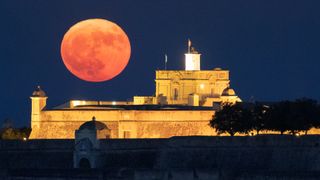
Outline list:
[[[209,120],[213,110],[47,110],[41,111],[41,121],[90,121],[93,116],[97,121],[119,120],[161,120],[185,121]]]

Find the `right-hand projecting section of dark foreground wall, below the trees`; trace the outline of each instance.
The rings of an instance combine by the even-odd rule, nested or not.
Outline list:
[[[175,137],[161,151],[156,167],[319,171],[319,144],[319,136]]]

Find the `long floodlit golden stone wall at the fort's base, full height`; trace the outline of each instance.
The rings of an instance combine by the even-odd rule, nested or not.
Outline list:
[[[47,110],[32,120],[30,139],[72,139],[93,116],[111,129],[111,138],[167,138],[212,135],[208,126],[213,111],[195,110]]]

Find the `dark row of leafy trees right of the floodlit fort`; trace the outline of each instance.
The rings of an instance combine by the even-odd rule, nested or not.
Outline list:
[[[210,126],[218,134],[231,136],[261,131],[307,134],[311,128],[320,127],[320,106],[317,101],[306,98],[273,104],[226,104],[215,113]]]

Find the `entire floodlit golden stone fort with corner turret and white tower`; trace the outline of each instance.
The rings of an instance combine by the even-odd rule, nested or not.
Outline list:
[[[92,117],[106,125],[106,138],[215,135],[209,126],[215,110],[241,99],[230,88],[229,71],[201,70],[200,56],[190,42],[184,70],[157,70],[155,96],[127,102],[70,100],[49,109],[39,86],[31,96],[30,139],[73,139]]]

